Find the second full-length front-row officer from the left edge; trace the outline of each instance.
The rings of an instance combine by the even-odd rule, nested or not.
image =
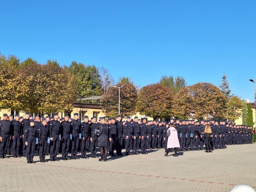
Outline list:
[[[19,121],[19,114],[15,115],[15,120],[12,121],[12,155],[14,158],[19,157],[20,136],[21,136],[21,123]]]

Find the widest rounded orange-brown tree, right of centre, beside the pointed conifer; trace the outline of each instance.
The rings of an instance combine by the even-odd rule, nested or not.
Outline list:
[[[179,118],[225,118],[227,98],[211,83],[197,83],[175,94],[173,114]]]

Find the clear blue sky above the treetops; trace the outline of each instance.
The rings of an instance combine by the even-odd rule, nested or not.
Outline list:
[[[2,1],[0,51],[21,61],[104,66],[140,86],[162,75],[254,100],[255,0]]]

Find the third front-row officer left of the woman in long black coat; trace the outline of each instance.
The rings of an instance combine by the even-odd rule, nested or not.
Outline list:
[[[71,128],[72,128],[71,159],[79,159],[76,157],[77,149],[79,145],[79,133],[81,133],[81,121],[79,120],[78,113],[74,113],[74,120],[71,121]]]

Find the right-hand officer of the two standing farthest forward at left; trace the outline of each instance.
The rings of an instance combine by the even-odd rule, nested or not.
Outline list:
[[[46,119],[43,117],[38,128],[40,162],[47,162],[47,160],[45,160],[45,154],[46,154],[48,136],[49,136],[49,128],[47,126]]]

